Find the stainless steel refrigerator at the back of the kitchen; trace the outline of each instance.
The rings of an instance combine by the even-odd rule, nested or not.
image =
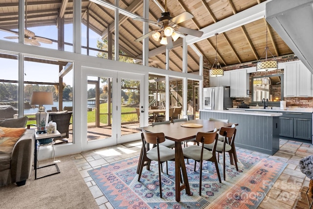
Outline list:
[[[203,109],[225,110],[232,106],[230,87],[203,88]]]

